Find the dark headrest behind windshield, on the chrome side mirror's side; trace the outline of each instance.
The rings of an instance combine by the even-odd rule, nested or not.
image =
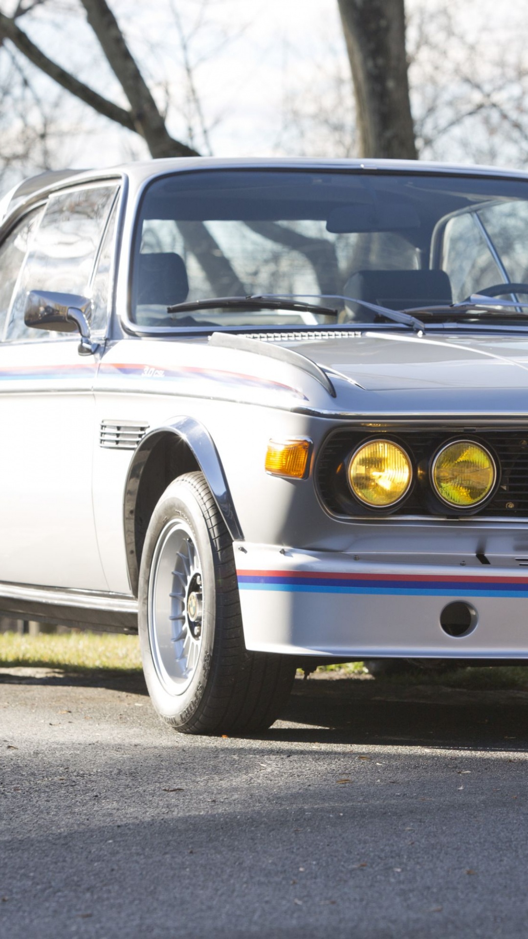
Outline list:
[[[137,278],[138,306],[183,303],[189,281],[183,258],[175,252],[140,254]]]

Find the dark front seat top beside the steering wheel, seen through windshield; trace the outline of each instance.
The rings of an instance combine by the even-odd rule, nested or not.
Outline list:
[[[453,302],[451,282],[444,270],[357,270],[343,293],[393,310]],[[376,314],[349,301],[343,318],[373,322]]]

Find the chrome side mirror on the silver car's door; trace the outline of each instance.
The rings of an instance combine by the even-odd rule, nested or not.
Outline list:
[[[76,294],[30,290],[25,300],[23,321],[34,330],[81,333],[79,355],[92,355],[98,347],[90,339],[88,317],[92,301]]]

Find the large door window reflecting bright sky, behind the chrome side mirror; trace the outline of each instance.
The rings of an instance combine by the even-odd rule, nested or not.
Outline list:
[[[87,295],[115,193],[115,186],[97,186],[50,196],[16,287],[7,340],[57,338],[25,326],[25,299],[30,290]]]

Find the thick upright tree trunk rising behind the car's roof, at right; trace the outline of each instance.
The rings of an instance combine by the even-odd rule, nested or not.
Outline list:
[[[404,0],[337,0],[357,107],[360,156],[416,160]]]

